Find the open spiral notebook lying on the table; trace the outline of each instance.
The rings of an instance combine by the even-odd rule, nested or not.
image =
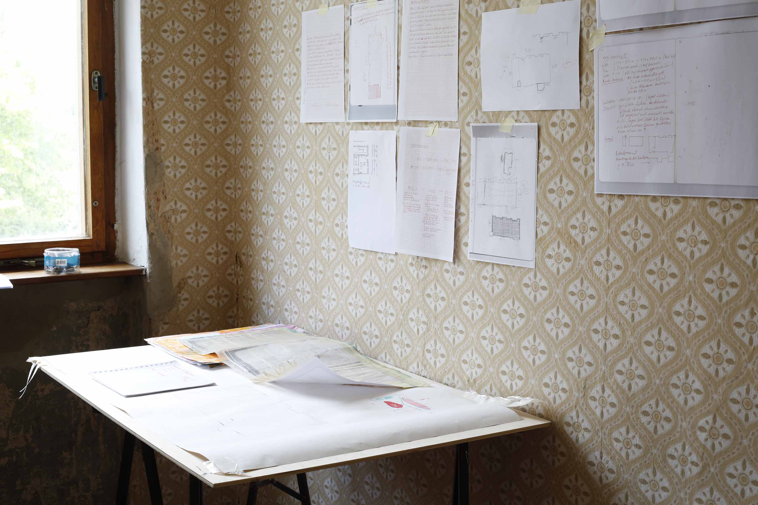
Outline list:
[[[124,397],[215,385],[215,382],[182,368],[177,361],[99,370],[89,375]]]

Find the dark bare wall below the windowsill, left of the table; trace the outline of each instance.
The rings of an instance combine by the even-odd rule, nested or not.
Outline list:
[[[44,373],[23,398],[18,391],[27,357],[143,343],[144,282],[97,279],[0,291],[0,503],[113,501],[123,431]]]

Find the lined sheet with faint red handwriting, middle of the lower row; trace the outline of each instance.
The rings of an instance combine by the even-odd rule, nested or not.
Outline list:
[[[397,251],[453,261],[461,130],[400,128]]]

